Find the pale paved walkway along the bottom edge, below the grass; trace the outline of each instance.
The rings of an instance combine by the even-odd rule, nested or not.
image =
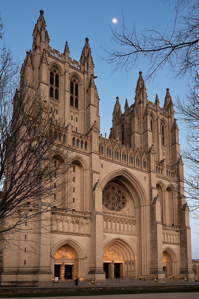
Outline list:
[[[26,297],[23,299],[29,299]],[[155,294],[129,294],[129,295],[100,295],[100,296],[64,296],[64,297],[31,297],[31,299],[198,299],[199,292],[195,293],[155,293]],[[0,297],[0,299],[6,299]],[[18,299],[13,297],[13,299]]]

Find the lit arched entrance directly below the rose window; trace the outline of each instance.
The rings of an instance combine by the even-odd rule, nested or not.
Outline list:
[[[123,239],[107,242],[103,251],[103,266],[106,278],[135,276],[135,254],[133,248]]]

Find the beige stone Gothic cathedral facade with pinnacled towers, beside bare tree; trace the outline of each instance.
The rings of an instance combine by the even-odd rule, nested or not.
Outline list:
[[[67,42],[63,53],[52,49],[40,10],[32,51],[26,53],[21,80],[39,78],[49,106],[56,105],[67,124],[63,135],[70,138],[75,157],[67,188],[73,192],[62,199],[62,208],[51,207],[50,231],[37,254],[4,249],[1,284],[46,285],[53,277],[75,276],[95,283],[137,275],[194,280],[169,89],[163,108],[157,95],[149,101],[140,71],[134,103],[126,100],[122,112],[116,97],[110,135],[103,137],[88,38],[80,62],[69,57]]]

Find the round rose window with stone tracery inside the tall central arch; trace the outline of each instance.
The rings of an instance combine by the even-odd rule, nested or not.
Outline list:
[[[106,185],[102,193],[102,204],[108,210],[121,211],[126,206],[126,195],[119,186]]]

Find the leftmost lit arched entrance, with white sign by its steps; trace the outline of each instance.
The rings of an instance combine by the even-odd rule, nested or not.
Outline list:
[[[51,271],[59,280],[84,278],[85,252],[81,245],[71,239],[56,244],[51,251]]]

